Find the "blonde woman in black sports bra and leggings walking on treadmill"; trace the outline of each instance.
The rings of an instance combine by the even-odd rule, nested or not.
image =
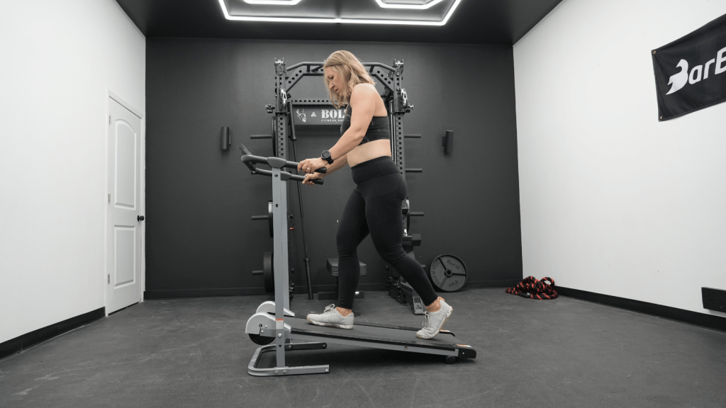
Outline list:
[[[322,314],[309,314],[314,325],[353,328],[353,298],[360,279],[357,248],[370,234],[375,249],[421,296],[426,306],[419,338],[433,338],[452,314],[453,308],[433,291],[421,265],[401,246],[401,203],[406,181],[391,159],[388,112],[367,70],[350,52],[336,51],[323,65],[325,86],[336,108],[346,107],[340,140],[320,158],[306,159],[298,171],[306,173],[303,184],[314,185],[346,164],[351,166],[356,188],[348,198],[338,224],[338,306]],[[325,175],[315,173],[327,167]]]

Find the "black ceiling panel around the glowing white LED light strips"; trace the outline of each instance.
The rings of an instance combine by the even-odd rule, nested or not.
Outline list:
[[[116,1],[147,37],[511,45],[562,0],[462,0],[443,26],[232,21],[219,0]]]

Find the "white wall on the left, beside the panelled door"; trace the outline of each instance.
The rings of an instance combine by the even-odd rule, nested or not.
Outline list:
[[[105,306],[107,90],[145,111],[113,0],[0,4],[0,342]]]

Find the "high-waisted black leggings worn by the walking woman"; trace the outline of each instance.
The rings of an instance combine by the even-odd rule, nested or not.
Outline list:
[[[351,168],[356,188],[348,198],[338,224],[338,307],[353,309],[360,280],[358,245],[370,234],[378,254],[430,305],[438,296],[421,265],[401,246],[404,221],[401,203],[406,198],[406,180],[389,156]]]

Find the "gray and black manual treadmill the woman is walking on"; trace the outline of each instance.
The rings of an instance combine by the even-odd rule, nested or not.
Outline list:
[[[304,317],[296,317],[290,311],[290,298],[287,295],[287,186],[288,180],[303,181],[305,177],[282,171],[283,168],[298,168],[298,163],[283,158],[263,158],[250,153],[244,144],[240,144],[242,163],[252,174],[272,178],[272,223],[274,230],[274,295],[275,301],[266,301],[258,306],[257,311],[247,321],[245,332],[253,342],[260,344],[253,354],[248,367],[250,375],[275,376],[295,374],[318,374],[330,372],[330,366],[315,365],[287,367],[285,352],[292,350],[310,350],[327,348],[327,343],[343,344],[370,348],[383,348],[402,352],[436,354],[446,357],[446,362],[453,364],[458,358],[476,358],[476,351],[471,346],[460,344],[453,332],[441,330],[433,339],[416,337],[419,330],[414,327],[398,327],[391,325],[373,325],[369,323],[355,324],[351,330],[336,327],[312,325]],[[256,168],[255,164],[269,165],[271,170]],[[319,169],[325,171],[325,168]],[[323,184],[322,180],[315,180]],[[277,256],[277,254],[280,254]],[[283,301],[280,302],[279,300]],[[303,343],[292,343],[300,340]],[[274,341],[274,344],[272,342]],[[275,351],[275,367],[257,367],[262,354]]]

